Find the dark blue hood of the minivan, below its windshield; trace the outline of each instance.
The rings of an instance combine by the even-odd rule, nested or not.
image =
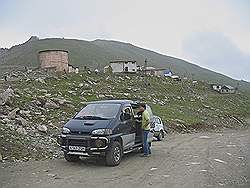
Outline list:
[[[109,120],[80,120],[71,119],[64,127],[70,129],[71,133],[76,134],[90,134],[95,129],[107,128],[113,119]]]

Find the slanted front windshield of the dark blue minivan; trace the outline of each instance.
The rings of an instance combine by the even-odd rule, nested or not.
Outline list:
[[[74,119],[112,119],[120,109],[120,104],[88,104]]]

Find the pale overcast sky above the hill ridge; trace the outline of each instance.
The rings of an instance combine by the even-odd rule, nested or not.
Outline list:
[[[112,39],[250,81],[249,0],[0,0],[0,47]]]

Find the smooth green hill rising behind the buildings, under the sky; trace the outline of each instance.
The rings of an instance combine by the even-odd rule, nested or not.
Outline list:
[[[158,68],[171,68],[180,76],[224,83],[236,86],[238,81],[225,75],[201,68],[187,61],[165,56],[150,50],[142,49],[128,43],[117,41],[95,40],[92,42],[73,39],[34,39],[24,44],[12,47],[0,54],[0,74],[9,70],[24,69],[24,66],[37,67],[39,62],[37,53],[45,49],[65,49],[69,51],[70,63],[90,68],[103,68],[111,60],[136,60],[143,64],[148,59],[148,65]],[[239,82],[241,88],[249,89],[248,82]]]

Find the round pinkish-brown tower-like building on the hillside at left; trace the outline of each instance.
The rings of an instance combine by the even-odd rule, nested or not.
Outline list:
[[[43,50],[38,53],[40,68],[56,72],[69,72],[69,57],[66,50]]]

